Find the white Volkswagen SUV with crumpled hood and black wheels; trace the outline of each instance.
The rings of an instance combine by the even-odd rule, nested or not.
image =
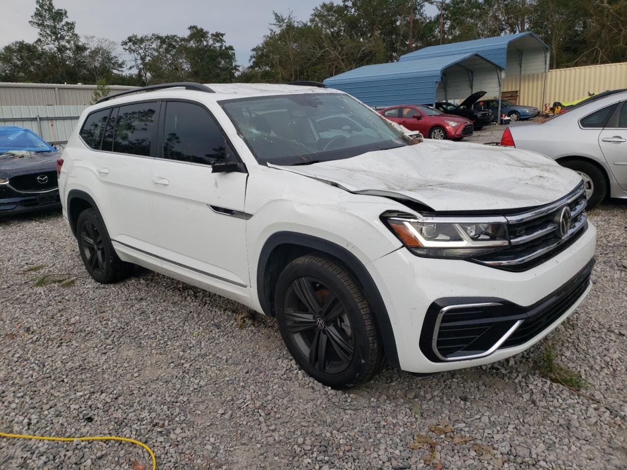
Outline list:
[[[133,91],[85,110],[59,162],[87,271],[139,264],[276,316],[324,384],[500,360],[589,290],[581,176],[542,155],[419,142],[316,86]]]

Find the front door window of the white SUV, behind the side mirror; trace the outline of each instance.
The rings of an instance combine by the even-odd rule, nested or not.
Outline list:
[[[236,160],[221,128],[207,110],[184,102],[166,105],[163,157],[203,165]]]

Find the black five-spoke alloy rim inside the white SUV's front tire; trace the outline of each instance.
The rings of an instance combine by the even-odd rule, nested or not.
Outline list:
[[[355,340],[346,308],[319,279],[292,282],[283,305],[292,341],[312,367],[323,373],[344,372],[355,355]]]

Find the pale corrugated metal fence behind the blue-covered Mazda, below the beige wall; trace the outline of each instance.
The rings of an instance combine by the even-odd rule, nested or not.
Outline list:
[[[2,106],[0,125],[26,127],[41,135],[44,140],[63,148],[87,106]],[[37,117],[40,118],[39,122]]]

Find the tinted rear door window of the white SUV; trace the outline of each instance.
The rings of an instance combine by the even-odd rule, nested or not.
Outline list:
[[[159,103],[120,106],[113,152],[149,157],[158,115]]]

